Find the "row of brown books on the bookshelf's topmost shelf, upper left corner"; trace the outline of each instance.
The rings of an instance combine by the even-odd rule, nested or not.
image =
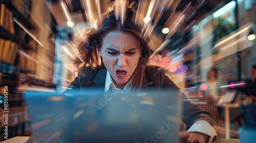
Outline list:
[[[8,30],[11,34],[15,35],[13,13],[4,4],[0,7],[0,26]]]

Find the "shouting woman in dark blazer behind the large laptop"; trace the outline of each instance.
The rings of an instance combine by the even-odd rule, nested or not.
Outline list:
[[[98,88],[104,92],[126,93],[151,87],[158,91],[177,89],[177,96],[180,94],[164,70],[147,66],[152,54],[150,37],[141,37],[143,28],[134,22],[136,12],[133,4],[127,5],[123,22],[115,17],[112,9],[103,15],[98,29],[86,31],[86,42],[79,44],[84,65],[66,92],[73,92],[76,88]],[[79,59],[74,62],[78,66],[83,64]],[[211,142],[216,138],[217,133],[212,128],[218,126],[215,118],[195,104],[187,102],[184,105],[182,121],[188,130],[179,134],[183,142]]]

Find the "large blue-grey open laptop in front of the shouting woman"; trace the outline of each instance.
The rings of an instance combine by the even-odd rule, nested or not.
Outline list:
[[[179,142],[181,96],[172,91],[25,93],[35,142]]]

